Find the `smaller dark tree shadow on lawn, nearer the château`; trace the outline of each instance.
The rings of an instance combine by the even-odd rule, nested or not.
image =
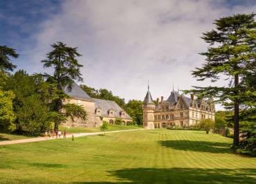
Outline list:
[[[184,151],[200,151],[214,154],[231,154],[230,145],[226,142],[208,142],[196,140],[160,140],[158,143],[164,147]]]

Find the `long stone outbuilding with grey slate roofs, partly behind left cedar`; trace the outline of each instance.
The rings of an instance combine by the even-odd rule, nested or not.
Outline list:
[[[64,103],[79,104],[87,112],[87,120],[75,119],[74,122],[68,120],[64,125],[72,127],[98,127],[102,121],[114,124],[116,118],[122,120],[122,125],[132,121],[132,118],[116,102],[111,100],[101,100],[91,98],[77,84],[73,84],[71,91],[65,90],[69,98]]]

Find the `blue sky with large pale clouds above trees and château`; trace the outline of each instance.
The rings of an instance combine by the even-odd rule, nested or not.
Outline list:
[[[89,86],[143,100],[149,80],[154,98],[167,98],[173,84],[210,84],[190,71],[203,64],[199,37],[214,19],[255,10],[255,0],[1,0],[0,44],[17,49],[17,69],[38,73],[50,44],[62,41],[82,53]]]

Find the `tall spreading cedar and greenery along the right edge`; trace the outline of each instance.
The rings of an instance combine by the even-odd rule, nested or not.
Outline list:
[[[212,84],[226,80],[226,86],[194,86],[185,91],[199,98],[214,98],[233,112],[233,147],[256,154],[256,22],[255,14],[233,15],[214,21],[216,28],[203,33],[209,44],[203,67],[192,72],[198,80]],[[240,129],[240,131],[239,131]],[[243,134],[241,134],[243,133]],[[239,141],[243,135],[243,141]]]

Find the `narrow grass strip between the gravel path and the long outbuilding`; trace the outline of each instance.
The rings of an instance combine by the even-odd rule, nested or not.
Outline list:
[[[60,131],[64,131],[66,129],[67,133],[87,133],[87,132],[98,132],[100,131],[100,127],[97,128],[86,128],[86,127],[59,127]],[[137,126],[121,126],[121,125],[109,125],[109,129],[107,131],[115,131],[115,130],[125,130],[125,129],[141,129]]]

